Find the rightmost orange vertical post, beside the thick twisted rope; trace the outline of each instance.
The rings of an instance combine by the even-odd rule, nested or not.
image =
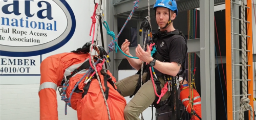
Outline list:
[[[247,35],[250,37],[247,37],[247,49],[249,50],[249,52],[247,52],[247,56],[248,56],[248,79],[250,81],[248,81],[247,87],[248,87],[248,98],[250,99],[250,105],[253,109],[253,50],[252,50],[252,6],[251,6],[251,0],[247,0]],[[253,115],[254,116],[254,115]],[[250,120],[250,112],[249,112],[249,120]],[[252,119],[251,119],[252,120]]]

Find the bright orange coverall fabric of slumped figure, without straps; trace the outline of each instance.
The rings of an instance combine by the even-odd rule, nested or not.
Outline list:
[[[49,56],[41,62],[41,66],[40,66],[41,78],[40,78],[40,88],[38,92],[39,99],[40,99],[39,100],[40,120],[48,120],[48,119],[58,120],[57,98],[56,98],[57,95],[55,91],[56,88],[53,88],[53,86],[54,85],[60,86],[61,81],[63,79],[63,75],[65,74],[65,71],[66,73],[67,71],[70,71],[69,70],[70,66],[74,64],[83,63],[88,58],[90,58],[90,54],[61,53],[61,54]],[[108,74],[111,75],[111,73],[108,73]],[[69,85],[67,89],[67,92],[69,91],[68,92],[69,94],[70,94],[70,90],[73,89],[75,84],[75,83],[72,83],[72,81],[79,81],[83,75],[84,74],[78,74],[74,78],[72,77],[70,79],[71,84],[73,85]],[[101,82],[103,83],[102,75],[100,75],[100,77],[101,77]],[[113,80],[115,80],[115,78],[112,75],[111,77]],[[78,86],[79,89],[81,90],[83,87],[82,85],[83,82],[81,82],[81,84]],[[51,84],[51,86],[49,86],[49,83]],[[123,119],[123,109],[124,109],[124,106],[126,105],[126,101],[109,83],[108,83],[108,86],[110,87],[108,103],[109,103],[111,116],[113,117],[111,119],[115,119],[115,118]],[[102,84],[102,87],[103,89],[105,89],[104,84]],[[97,96],[95,96],[94,93],[97,93]],[[97,97],[97,99],[95,97]],[[60,99],[60,96],[59,96],[59,99]],[[87,99],[91,101],[81,102]],[[83,103],[83,104],[79,104],[79,103]],[[102,97],[97,79],[92,80],[88,94],[82,100],[81,100],[81,93],[74,92],[71,98],[71,104],[72,104],[72,108],[77,110],[77,116],[79,120],[92,119],[93,117],[95,117],[96,119],[101,119],[97,117],[99,116],[99,114],[102,116],[102,119],[108,119],[108,114],[106,113],[104,99]],[[88,107],[88,106],[91,106],[91,107]],[[95,111],[95,109],[93,109],[94,108],[93,106],[95,106],[95,108],[100,108],[100,109],[97,109],[99,111]],[[90,111],[91,114],[87,114],[87,116],[84,116],[83,114],[84,111],[81,111],[81,110]]]

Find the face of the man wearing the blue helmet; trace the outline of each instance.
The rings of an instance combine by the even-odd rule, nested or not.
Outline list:
[[[165,27],[166,23],[169,21],[169,15],[171,16],[170,19],[174,19],[175,15],[172,14],[172,11],[169,12],[169,9],[164,7],[158,7],[156,9],[156,20],[157,24],[160,28]]]

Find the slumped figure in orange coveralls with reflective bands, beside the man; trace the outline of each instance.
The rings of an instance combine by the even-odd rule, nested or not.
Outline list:
[[[72,109],[77,111],[78,120],[109,119],[97,78],[94,77],[86,85],[84,84],[86,79],[84,74],[90,69],[81,69],[80,67],[88,65],[90,58],[89,53],[61,53],[49,56],[41,62],[41,78],[38,92],[40,98],[40,120],[58,120],[56,90],[57,87],[62,86],[63,78],[69,79],[69,85],[65,91],[69,99],[63,99],[63,96],[61,99],[65,100]],[[90,63],[88,67],[90,67]],[[108,70],[106,73],[98,72],[98,74],[109,106],[111,119],[124,120],[123,110],[126,101],[113,84],[116,79]],[[71,75],[72,77],[69,78]],[[81,78],[83,79],[81,80]],[[80,83],[76,87],[78,81]]]

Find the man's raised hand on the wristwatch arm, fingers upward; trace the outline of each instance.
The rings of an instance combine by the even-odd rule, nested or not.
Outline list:
[[[145,52],[142,47],[140,46],[140,44],[138,44],[138,46],[136,47],[135,51],[136,51],[136,56],[146,62],[146,63],[150,63],[153,58],[151,57],[151,51],[150,51],[150,46],[146,45],[146,49],[147,51]]]

